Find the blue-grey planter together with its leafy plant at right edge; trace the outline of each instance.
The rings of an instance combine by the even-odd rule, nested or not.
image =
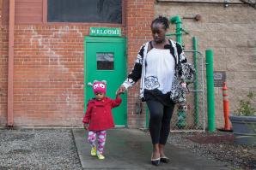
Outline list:
[[[235,135],[235,143],[256,145],[256,94],[250,91],[240,100],[239,108],[229,115]]]

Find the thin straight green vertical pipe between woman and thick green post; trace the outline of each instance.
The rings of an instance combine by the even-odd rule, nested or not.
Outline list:
[[[198,51],[198,39],[195,37],[192,37],[192,44],[193,44],[193,50],[195,51],[193,53],[193,58],[194,58],[194,67],[195,67],[195,82],[194,82],[194,90],[198,91],[198,56],[197,56],[197,51]],[[198,92],[195,93],[195,125],[198,126],[199,123],[199,97],[198,97]]]

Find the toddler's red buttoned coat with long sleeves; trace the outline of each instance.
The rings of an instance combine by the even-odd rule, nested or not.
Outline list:
[[[107,130],[114,126],[112,108],[118,107],[122,99],[117,97],[115,100],[104,97],[101,101],[92,99],[88,101],[87,110],[82,122],[88,123],[89,131]]]

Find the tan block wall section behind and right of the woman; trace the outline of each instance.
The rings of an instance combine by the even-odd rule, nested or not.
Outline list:
[[[229,110],[234,111],[248,91],[256,91],[256,10],[247,5],[155,3],[155,16],[180,15],[186,50],[192,37],[198,50],[214,50],[214,71],[225,71],[229,87]],[[201,21],[185,19],[201,15]],[[174,32],[174,26],[171,27]],[[215,88],[216,126],[223,127],[222,88]]]

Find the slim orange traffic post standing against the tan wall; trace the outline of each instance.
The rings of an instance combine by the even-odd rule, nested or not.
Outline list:
[[[227,83],[223,82],[222,86],[222,97],[223,97],[223,112],[224,112],[224,120],[225,120],[225,127],[224,130],[230,130],[229,124],[229,98],[228,98],[228,87]]]

